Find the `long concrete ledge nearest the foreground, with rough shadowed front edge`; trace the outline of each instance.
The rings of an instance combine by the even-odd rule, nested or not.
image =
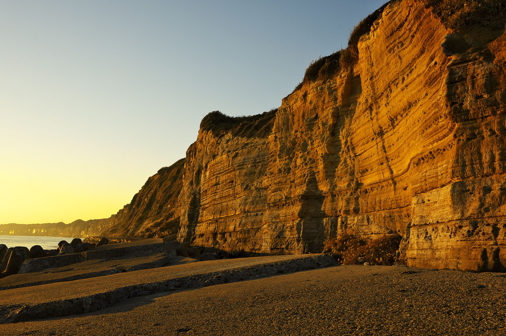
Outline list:
[[[0,295],[0,323],[90,313],[133,297],[336,264],[325,254],[212,260],[77,280],[65,286],[47,284],[6,290]]]

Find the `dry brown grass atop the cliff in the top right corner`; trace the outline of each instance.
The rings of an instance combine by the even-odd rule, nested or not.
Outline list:
[[[504,29],[506,0],[422,0],[448,28]]]

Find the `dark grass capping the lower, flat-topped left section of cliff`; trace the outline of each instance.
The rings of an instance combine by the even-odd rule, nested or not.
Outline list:
[[[232,132],[234,136],[253,138],[271,134],[277,108],[255,116],[230,117],[220,111],[208,113],[200,122],[200,129],[213,131],[217,136]]]

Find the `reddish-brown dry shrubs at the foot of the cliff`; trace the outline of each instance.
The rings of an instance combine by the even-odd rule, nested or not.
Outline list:
[[[352,235],[343,235],[326,242],[323,253],[332,253],[343,264],[393,265],[402,237],[384,236],[366,241]]]

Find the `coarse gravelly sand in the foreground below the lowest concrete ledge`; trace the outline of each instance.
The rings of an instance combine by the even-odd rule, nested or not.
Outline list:
[[[501,335],[506,274],[334,266],[130,299],[6,335]]]

